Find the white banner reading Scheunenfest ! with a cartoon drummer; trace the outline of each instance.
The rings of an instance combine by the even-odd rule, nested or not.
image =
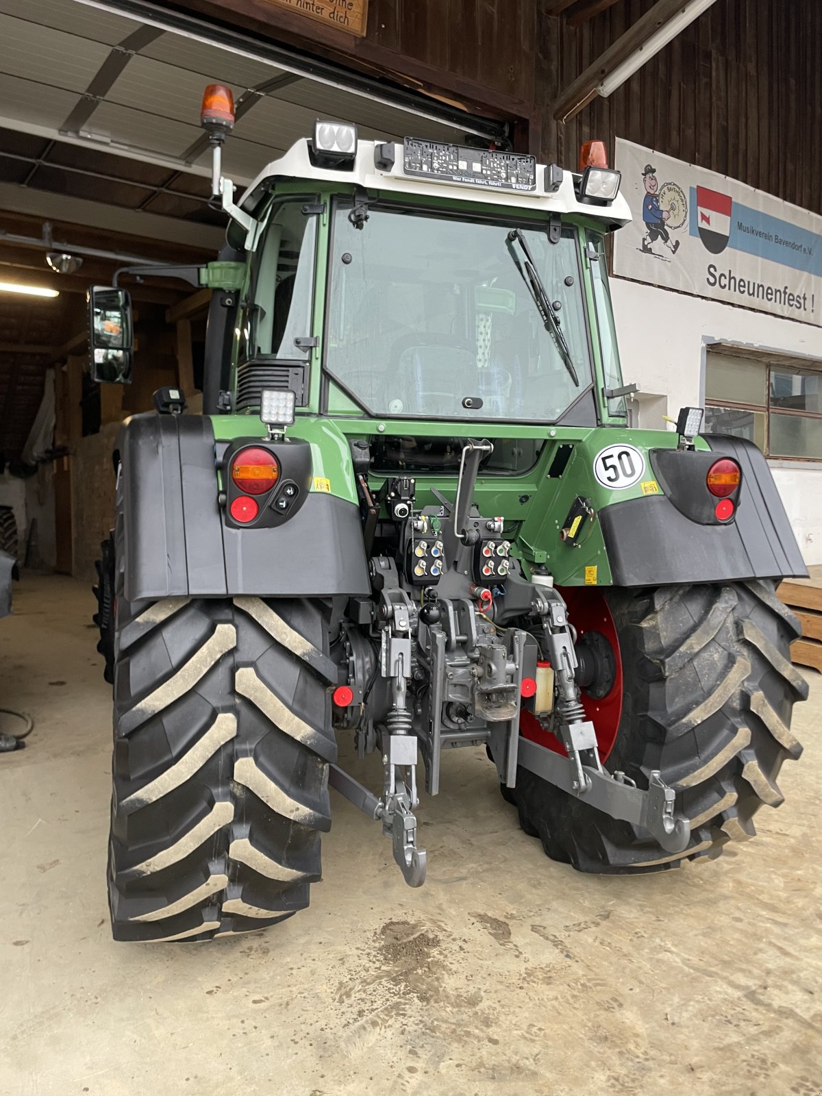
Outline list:
[[[614,273],[822,326],[822,217],[617,138]]]

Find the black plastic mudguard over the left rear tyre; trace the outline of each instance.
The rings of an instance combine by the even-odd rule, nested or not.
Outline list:
[[[138,414],[118,435],[125,595],[364,596],[359,510],[312,492],[277,528],[228,528],[217,501],[212,421]]]

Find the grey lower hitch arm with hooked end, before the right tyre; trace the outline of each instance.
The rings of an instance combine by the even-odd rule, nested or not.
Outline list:
[[[651,773],[648,790],[643,791],[590,765],[576,766],[570,758],[530,739],[520,740],[520,765],[596,810],[641,826],[666,853],[684,853],[687,848],[690,822],[682,814],[674,814],[674,789],[663,783],[657,770]]]

